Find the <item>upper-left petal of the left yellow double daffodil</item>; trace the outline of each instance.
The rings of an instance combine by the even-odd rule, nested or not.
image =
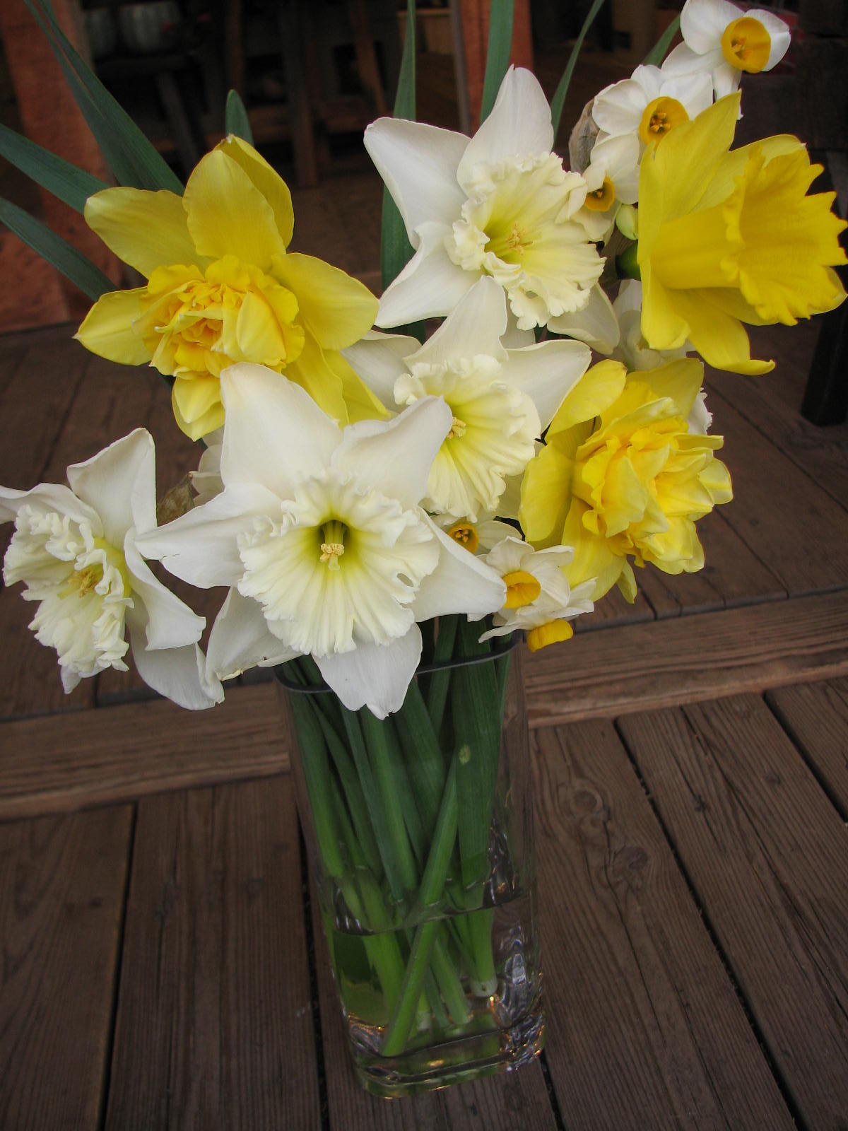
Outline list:
[[[145,278],[168,264],[204,266],[175,192],[104,189],[86,200],[85,218],[106,247]]]

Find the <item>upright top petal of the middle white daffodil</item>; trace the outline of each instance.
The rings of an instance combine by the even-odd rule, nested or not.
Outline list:
[[[435,334],[407,357],[409,365],[438,365],[455,357],[488,354],[505,360],[501,335],[507,330],[507,297],[493,278],[481,278],[465,294]]]

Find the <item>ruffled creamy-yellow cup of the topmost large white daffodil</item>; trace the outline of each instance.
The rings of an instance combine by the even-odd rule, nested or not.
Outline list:
[[[445,248],[465,270],[484,271],[507,291],[520,329],[582,310],[604,260],[572,216],[586,195],[579,173],[555,154],[481,164]]]

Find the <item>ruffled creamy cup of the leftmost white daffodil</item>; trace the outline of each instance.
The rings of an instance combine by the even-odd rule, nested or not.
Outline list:
[[[107,667],[127,671],[130,575],[123,553],[94,537],[88,523],[21,507],[3,580],[23,581],[24,599],[38,602],[29,628],[40,644],[59,654],[66,691]]]

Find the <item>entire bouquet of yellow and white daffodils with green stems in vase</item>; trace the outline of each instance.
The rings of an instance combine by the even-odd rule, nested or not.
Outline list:
[[[613,586],[633,601],[634,567],[701,569],[696,521],[732,498],[701,359],[767,373],[744,323],[845,299],[845,224],[807,193],[821,169],[804,145],[733,148],[741,74],[782,58],[786,25],[726,0],[686,0],[680,25],[665,61],[587,106],[569,164],[534,76],[497,75],[502,50],[474,137],[370,126],[395,256],[379,301],[287,250],[288,189],[236,102],[184,189],[119,121],[104,152],[122,187],[84,196],[146,282],[89,273],[77,337],[165,378],[205,443],[196,498],[157,525],[144,429],[67,485],[0,489],[5,581],[37,604],[66,690],[131,650],[152,688],[205,708],[244,670],[286,665],[334,960],[370,986],[346,1009],[383,1057],[415,1034],[488,1033],[469,1001],[505,1009],[487,879],[508,823],[501,638],[566,641]],[[412,58],[407,43],[407,93]],[[205,653],[168,573],[225,594]],[[340,906],[366,940],[353,958],[332,941]]]

